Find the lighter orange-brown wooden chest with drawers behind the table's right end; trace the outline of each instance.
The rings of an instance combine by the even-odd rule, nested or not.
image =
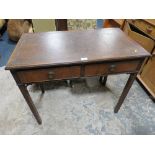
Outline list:
[[[123,31],[151,54],[142,65],[137,79],[155,99],[155,19],[125,20]]]

